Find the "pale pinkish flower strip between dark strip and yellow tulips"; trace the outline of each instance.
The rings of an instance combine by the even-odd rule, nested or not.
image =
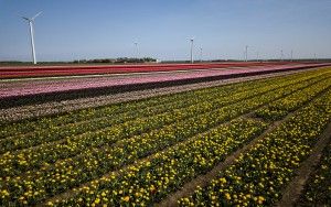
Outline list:
[[[122,92],[122,94],[93,97],[93,98],[52,101],[52,102],[40,103],[40,105],[0,109],[0,122],[18,121],[18,120],[44,117],[44,116],[50,116],[55,113],[64,113],[64,112],[78,110],[78,109],[100,107],[110,103],[139,100],[143,98],[170,95],[170,94],[189,91],[189,90],[207,88],[207,87],[222,86],[227,84],[235,84],[241,81],[249,81],[249,80],[264,79],[269,77],[286,76],[290,74],[297,74],[297,73],[308,72],[308,70],[319,69],[319,68],[321,67],[276,73],[276,74],[267,74],[267,75],[259,75],[259,76],[252,76],[252,77],[231,78],[231,79],[223,79],[223,80],[209,81],[209,83],[199,83],[199,84],[190,84],[190,85],[182,85],[182,86],[138,90],[138,91]]]

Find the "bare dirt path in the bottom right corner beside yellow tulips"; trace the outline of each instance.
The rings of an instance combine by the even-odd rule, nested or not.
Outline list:
[[[323,133],[319,137],[319,141],[312,149],[310,156],[301,163],[297,171],[297,176],[289,183],[282,193],[280,201],[276,204],[278,207],[295,206],[296,201],[300,198],[305,184],[310,174],[313,172],[314,166],[320,162],[323,149],[328,145],[331,139],[331,122],[327,126]]]

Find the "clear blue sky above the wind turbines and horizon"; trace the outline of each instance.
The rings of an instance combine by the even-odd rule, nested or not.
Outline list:
[[[331,0],[0,0],[0,61],[31,59],[40,11],[38,61],[331,58]]]

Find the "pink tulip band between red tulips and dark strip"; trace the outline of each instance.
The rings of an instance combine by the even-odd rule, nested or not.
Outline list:
[[[309,67],[318,67],[324,64],[291,64],[291,65],[266,65],[266,66],[246,66],[246,67],[221,67],[217,69],[200,69],[185,72],[178,72],[181,67],[172,67],[172,70],[168,73],[150,73],[146,74],[130,74],[130,75],[116,75],[116,76],[99,76],[99,77],[81,77],[81,78],[53,78],[53,79],[21,79],[20,81],[7,81],[2,80],[0,86],[0,100],[1,99],[14,99],[22,97],[38,98],[38,95],[58,95],[68,91],[84,90],[102,92],[104,90],[121,90],[126,87],[129,90],[137,89],[139,87],[160,87],[164,85],[178,85],[185,81],[205,81],[212,79],[223,79],[229,77],[245,77],[257,74],[270,74],[286,70],[297,70]],[[0,69],[1,77],[1,69]],[[1,78],[0,78],[1,79]],[[131,88],[134,87],[134,88]],[[131,89],[130,89],[131,88]],[[111,89],[111,90],[110,90]],[[83,94],[84,95],[84,94]],[[82,96],[83,96],[82,95]],[[86,96],[86,95],[85,95]],[[20,100],[20,99],[18,99]]]

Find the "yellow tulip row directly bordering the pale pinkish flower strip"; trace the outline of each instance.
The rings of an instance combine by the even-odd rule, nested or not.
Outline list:
[[[320,74],[327,73],[325,69],[320,69]],[[310,75],[317,75],[316,72],[306,72],[306,76]],[[303,77],[302,74],[297,74],[292,76],[293,78]],[[247,83],[238,83],[234,85],[228,86],[222,86],[222,87],[214,87],[209,89],[200,89],[200,90],[193,90],[193,91],[186,91],[186,92],[180,92],[175,95],[167,95],[161,96],[157,98],[149,98],[145,100],[137,100],[137,101],[130,101],[125,103],[117,103],[111,105],[107,107],[99,107],[99,108],[89,108],[78,111],[68,112],[65,115],[58,115],[58,116],[51,116],[41,118],[38,120],[26,120],[26,121],[19,121],[15,123],[1,123],[1,130],[0,130],[0,139],[8,138],[8,137],[17,137],[22,135],[28,132],[33,131],[40,131],[44,129],[61,129],[61,127],[70,123],[75,123],[79,121],[85,120],[94,120],[96,118],[102,117],[114,117],[115,115],[120,115],[124,112],[128,112],[130,115],[136,115],[137,110],[140,110],[141,108],[149,108],[152,109],[154,106],[164,106],[168,103],[178,103],[180,99],[183,100],[190,100],[192,98],[195,98],[197,96],[205,96],[205,95],[213,95],[218,92],[238,92],[244,90],[250,90],[254,88],[258,88],[260,84],[269,83],[273,84],[274,80],[278,81],[279,79],[287,79],[284,77],[275,77],[269,79],[261,79],[261,80],[255,80],[255,81],[247,81]],[[244,87],[244,88],[243,88]],[[224,96],[226,96],[224,95]],[[179,99],[180,98],[180,99]],[[171,108],[171,107],[169,107]]]

